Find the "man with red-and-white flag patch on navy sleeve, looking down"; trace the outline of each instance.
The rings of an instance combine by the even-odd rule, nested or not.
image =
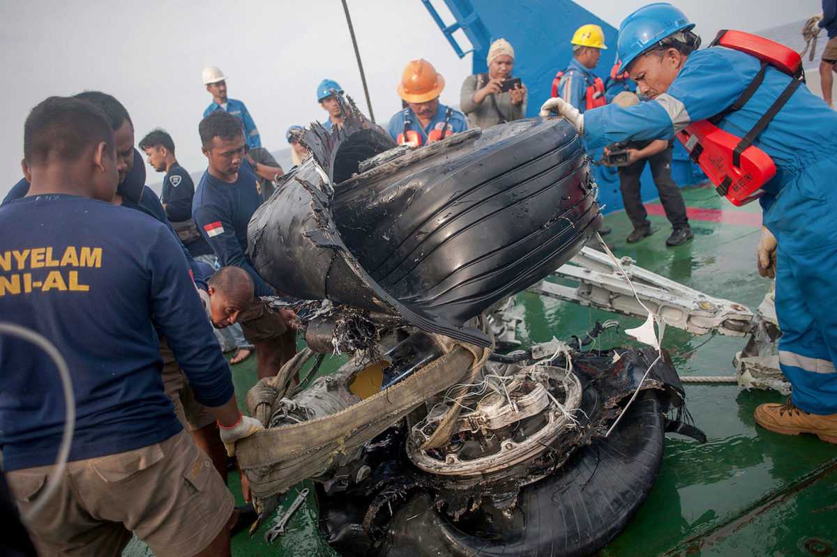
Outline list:
[[[256,177],[244,161],[244,134],[237,120],[218,110],[198,125],[208,168],[198,182],[192,215],[222,267],[239,267],[253,279],[255,299],[238,315],[244,337],[256,347],[259,378],[275,376],[296,353],[291,311],[274,312],[259,296],[275,289],[261,278],[247,255],[247,225],[261,198]]]

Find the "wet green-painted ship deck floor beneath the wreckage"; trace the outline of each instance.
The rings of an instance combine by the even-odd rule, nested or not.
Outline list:
[[[708,187],[683,190],[695,239],[666,248],[670,225],[658,202],[648,204],[655,234],[636,244],[624,238],[631,230],[624,212],[608,215],[614,232],[606,239],[618,256],[630,256],[655,273],[718,298],[755,310],[770,288],[758,277],[754,252],[761,222],[756,203],[737,209]],[[596,309],[583,308],[536,294],[519,294],[525,322],[518,338],[525,345],[567,339],[590,330],[596,320],[619,319],[619,332],[599,337],[603,346],[630,344],[622,330],[640,323]],[[611,329],[608,331],[616,331]],[[668,328],[663,345],[681,376],[732,375],[732,357],[745,339],[720,335],[693,336]],[[324,371],[342,361],[333,358]],[[255,381],[255,359],[233,368],[239,404]],[[730,385],[686,385],[686,404],[705,445],[670,435],[665,458],[650,497],[613,542],[606,556],[647,555],[837,555],[837,446],[813,436],[788,437],[755,425],[754,408],[782,396],[767,391],[740,391]],[[230,488],[240,488],[230,474]],[[285,505],[295,497],[291,490]],[[288,533],[275,544],[264,542],[263,525],[249,537],[233,539],[233,555],[334,555],[317,529],[312,494],[290,520]],[[146,554],[132,544],[126,556]]]

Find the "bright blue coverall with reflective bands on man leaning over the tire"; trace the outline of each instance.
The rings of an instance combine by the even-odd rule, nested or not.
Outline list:
[[[691,54],[665,94],[628,109],[606,105],[584,115],[588,151],[617,141],[670,139],[737,100],[760,69],[757,59],[712,47]],[[721,129],[743,137],[790,77],[768,68],[764,82]],[[763,188],[763,223],[778,241],[776,313],[779,365],[803,411],[837,413],[837,112],[800,86],[755,146],[776,164]]]

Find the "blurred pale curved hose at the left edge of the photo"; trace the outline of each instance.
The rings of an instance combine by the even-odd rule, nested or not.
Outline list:
[[[58,456],[54,464],[55,468],[47,478],[44,493],[41,493],[32,508],[26,514],[23,514],[23,521],[31,522],[34,516],[44,508],[44,505],[58,488],[61,477],[64,475],[64,468],[67,467],[69,447],[72,444],[73,434],[75,432],[75,395],[73,392],[73,381],[69,376],[69,367],[67,361],[64,360],[64,356],[61,355],[58,349],[55,348],[55,345],[49,342],[44,335],[40,335],[31,329],[21,327],[17,324],[0,322],[0,334],[3,333],[28,340],[33,345],[44,350],[49,358],[54,361],[55,367],[58,369],[58,374],[61,377],[61,387],[64,389],[64,435],[61,437]]]

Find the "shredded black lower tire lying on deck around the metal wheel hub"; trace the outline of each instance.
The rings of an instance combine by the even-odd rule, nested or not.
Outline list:
[[[671,425],[683,426],[667,417],[684,408],[684,392],[670,360],[656,362],[644,380],[655,352],[619,352],[621,363],[616,365],[610,363],[613,351],[573,355],[584,383],[579,425],[592,428],[592,434],[580,447],[556,440],[557,452],[571,451],[572,456],[547,477],[522,486],[516,502],[505,510],[492,501],[507,486],[488,483],[467,511],[454,518],[458,505],[452,508],[449,487],[404,457],[393,457],[399,451],[390,450],[388,461],[372,462],[376,472],[367,482],[372,488],[321,495],[326,539],[341,554],[376,557],[595,554],[644,503],[660,473],[665,432],[677,429]],[[638,387],[644,390],[606,436]],[[364,493],[375,495],[371,504]],[[483,503],[477,504],[480,496]],[[380,502],[382,497],[386,503]],[[374,520],[367,507],[379,509]]]

